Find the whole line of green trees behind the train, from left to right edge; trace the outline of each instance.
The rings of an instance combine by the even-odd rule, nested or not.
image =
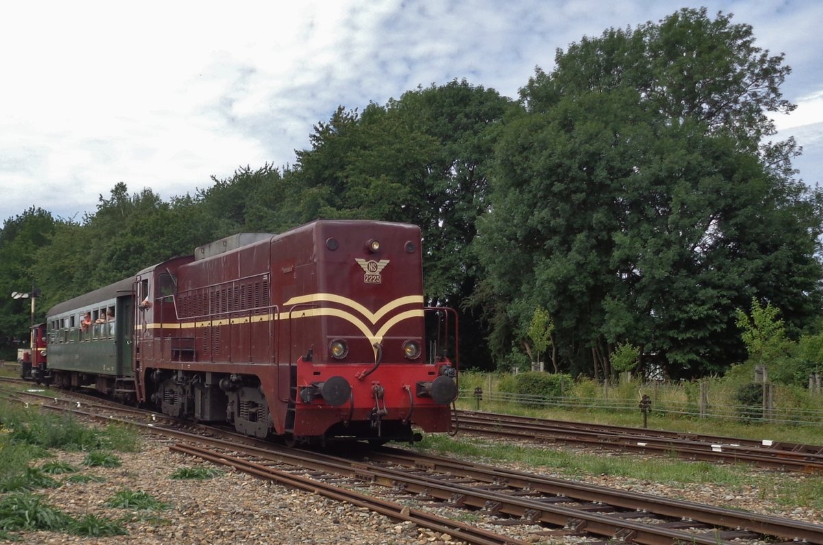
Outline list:
[[[340,107],[283,169],[238,169],[163,201],[117,183],[81,221],[32,208],[0,231],[0,287],[40,316],[232,233],[318,218],[421,226],[425,296],[458,309],[464,366],[607,377],[613,354],[669,376],[746,359],[752,302],[789,338],[821,317],[821,192],[796,178],[783,54],[705,9],[558,50],[517,99],[463,81]],[[535,332],[537,322],[551,328]],[[0,335],[26,338],[0,298]],[[535,339],[539,339],[537,346]]]

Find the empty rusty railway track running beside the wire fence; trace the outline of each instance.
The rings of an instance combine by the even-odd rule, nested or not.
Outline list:
[[[823,473],[823,446],[700,436],[471,411],[458,411],[457,422],[463,432],[487,436],[583,445],[643,454],[676,454],[687,460],[745,463],[782,471]]]

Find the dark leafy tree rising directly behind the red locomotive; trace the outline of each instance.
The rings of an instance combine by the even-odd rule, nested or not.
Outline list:
[[[286,176],[300,187],[289,210],[303,219],[402,221],[423,232],[426,297],[458,308],[463,362],[490,364],[480,316],[461,307],[477,284],[469,244],[487,206],[491,127],[508,99],[466,81],[412,90],[362,114],[338,109]]]

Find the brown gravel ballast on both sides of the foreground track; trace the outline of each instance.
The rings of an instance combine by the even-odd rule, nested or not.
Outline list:
[[[362,508],[282,487],[223,467],[220,468],[223,471],[221,475],[207,480],[171,479],[170,475],[177,469],[214,466],[187,455],[173,453],[169,450],[169,445],[170,442],[165,439],[144,436],[142,450],[138,453],[118,453],[123,464],[111,469],[84,467],[82,460],[85,453],[54,452],[58,460],[82,468],[83,474],[105,478],[105,482],[64,483],[61,487],[36,493],[42,493],[45,502],[75,517],[91,513],[123,520],[128,535],[80,538],[66,533],[30,532],[21,534],[24,543],[460,543],[452,541],[446,534],[418,529],[410,523],[400,523]],[[511,467],[528,470],[522,465]],[[539,471],[559,476],[552,475],[545,468]],[[756,471],[761,470],[752,469],[753,473]],[[62,480],[65,476],[56,477]],[[784,478],[809,477],[784,474]],[[581,480],[633,492],[751,510],[816,524],[823,520],[823,510],[779,506],[765,497],[764,491],[753,486],[729,492],[722,483],[678,483],[677,486],[669,486],[605,475],[581,477]],[[110,497],[122,490],[146,492],[170,507],[167,510],[148,512],[105,506]],[[404,503],[444,516],[453,512],[430,507],[425,502]],[[494,532],[516,533],[518,538],[537,541],[535,536],[529,535],[531,530],[537,528],[482,525]],[[576,542],[579,542],[579,538],[555,536],[544,537],[540,543]]]

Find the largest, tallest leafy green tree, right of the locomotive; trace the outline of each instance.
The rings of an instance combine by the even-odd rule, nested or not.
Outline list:
[[[609,374],[630,342],[690,376],[742,357],[734,312],[751,297],[796,324],[817,312],[820,198],[790,178],[793,143],[762,140],[765,113],[792,108],[788,67],[730,19],[607,30],[521,90],[476,244],[499,353],[542,305],[574,372]]]

